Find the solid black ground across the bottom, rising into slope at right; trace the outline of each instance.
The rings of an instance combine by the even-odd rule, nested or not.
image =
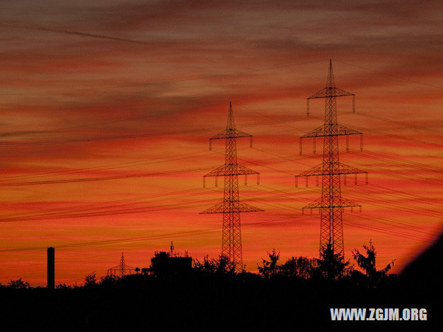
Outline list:
[[[0,331],[442,331],[437,241],[377,288],[251,273],[131,275],[98,286],[0,287]],[[427,321],[332,322],[329,308],[426,308]],[[400,316],[401,317],[401,316]]]

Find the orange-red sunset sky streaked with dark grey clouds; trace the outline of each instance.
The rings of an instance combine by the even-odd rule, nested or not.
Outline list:
[[[361,131],[341,140],[343,197],[362,205],[343,219],[345,256],[370,239],[394,272],[429,246],[443,218],[442,1],[8,1],[0,3],[0,282],[56,284],[106,274],[121,252],[147,267],[155,250],[216,257],[229,101],[239,163],[260,185],[240,197],[243,259],[256,272],[273,248],[282,261],[318,256],[315,179],[321,163],[298,139],[320,126],[329,58],[338,122]],[[354,264],[354,261],[352,261]]]

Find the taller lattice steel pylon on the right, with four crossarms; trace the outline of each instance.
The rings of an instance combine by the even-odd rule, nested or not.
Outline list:
[[[302,154],[302,140],[304,138],[313,138],[315,154],[316,138],[323,137],[323,163],[296,176],[296,186],[300,176],[306,177],[306,186],[308,186],[308,176],[316,176],[317,186],[318,176],[322,176],[320,199],[306,205],[302,209],[303,211],[310,209],[311,213],[313,209],[320,211],[320,254],[330,243],[334,253],[340,254],[343,257],[344,208],[350,207],[352,211],[353,208],[359,207],[361,210],[361,205],[341,196],[341,175],[343,175],[344,184],[346,184],[346,174],[354,174],[355,184],[357,184],[357,174],[365,174],[365,182],[368,183],[368,172],[340,163],[338,136],[346,137],[346,151],[349,151],[349,136],[360,135],[360,149],[363,151],[363,134],[337,123],[336,98],[345,96],[352,96],[352,111],[354,111],[355,95],[336,88],[332,61],[329,60],[329,72],[325,89],[307,98],[307,116],[309,116],[309,100],[325,98],[325,122],[322,126],[300,137],[300,154]]]

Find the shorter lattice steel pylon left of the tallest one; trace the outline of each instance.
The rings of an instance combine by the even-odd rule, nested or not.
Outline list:
[[[247,184],[249,174],[257,174],[257,184],[260,181],[260,174],[237,163],[237,138],[251,138],[250,147],[252,147],[252,136],[243,131],[235,129],[233,108],[229,102],[228,124],[224,131],[218,133],[209,139],[209,149],[212,149],[213,140],[225,140],[224,165],[217,167],[212,172],[203,176],[203,186],[207,176],[215,176],[215,185],[217,186],[217,177],[224,176],[224,196],[223,202],[201,212],[201,214],[222,213],[223,228],[221,232],[221,255],[227,257],[231,266],[235,267],[237,272],[243,269],[242,257],[242,232],[240,225],[240,212],[258,212],[263,211],[239,200],[238,176],[244,175],[244,184]]]

